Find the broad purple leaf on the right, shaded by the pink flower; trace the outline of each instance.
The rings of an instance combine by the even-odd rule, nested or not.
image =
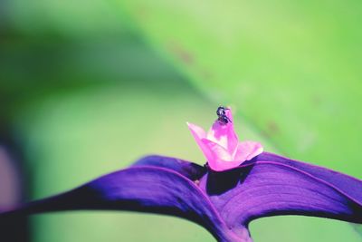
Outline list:
[[[255,218],[304,215],[362,223],[362,180],[262,153],[200,181],[228,226]]]

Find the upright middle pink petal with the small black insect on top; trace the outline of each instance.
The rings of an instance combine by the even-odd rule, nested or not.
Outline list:
[[[233,130],[233,115],[231,110],[226,110],[226,116],[231,120],[226,124],[221,124],[219,121],[214,121],[213,126],[207,133],[207,140],[212,140],[215,143],[223,146],[229,153],[233,153],[238,144],[238,137]]]

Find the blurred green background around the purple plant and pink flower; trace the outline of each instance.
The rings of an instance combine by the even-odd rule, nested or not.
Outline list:
[[[361,1],[0,1],[0,205],[158,153],[233,106],[241,139],[362,179]],[[26,225],[27,224],[27,225]],[[357,229],[356,229],[357,228]],[[262,218],[255,242],[361,241],[358,226]],[[33,216],[23,241],[214,241],[179,218]],[[14,240],[13,240],[14,241]]]

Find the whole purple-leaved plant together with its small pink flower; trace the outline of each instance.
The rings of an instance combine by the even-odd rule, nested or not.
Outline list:
[[[231,110],[206,134],[188,124],[207,165],[148,156],[128,169],[77,189],[0,214],[0,222],[29,214],[114,209],[186,218],[218,241],[252,241],[256,218],[303,215],[362,223],[362,181],[336,171],[290,160],[253,141],[239,142]],[[0,235],[1,237],[1,235]]]

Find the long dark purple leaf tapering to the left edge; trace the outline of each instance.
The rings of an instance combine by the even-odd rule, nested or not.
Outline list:
[[[165,160],[168,163],[163,162]],[[142,163],[145,164],[141,165]],[[164,165],[171,169],[150,164]],[[224,220],[205,193],[197,188],[193,180],[186,178],[191,177],[196,169],[204,168],[172,158],[145,158],[139,160],[134,167],[110,173],[80,188],[0,214],[0,221],[49,211],[130,210],[186,218],[205,227],[220,241],[242,241],[225,226]],[[176,171],[183,172],[186,176]]]

